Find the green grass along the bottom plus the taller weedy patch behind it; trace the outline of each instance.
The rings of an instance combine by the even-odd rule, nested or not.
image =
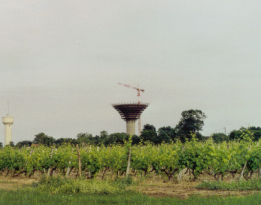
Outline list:
[[[254,182],[260,184],[260,182]],[[97,184],[98,183],[98,184]],[[219,182],[220,184],[221,182]],[[250,183],[250,182],[243,182]],[[229,183],[227,183],[229,184]],[[42,178],[31,187],[0,190],[0,205],[260,205],[261,194],[248,196],[194,195],[187,199],[152,197],[126,189],[136,187],[132,178],[116,181],[95,181]],[[152,185],[152,184],[151,184]],[[206,183],[205,183],[206,185]],[[249,184],[247,184],[249,185]],[[244,185],[245,186],[245,185]],[[120,188],[120,189],[119,189]],[[75,191],[77,190],[77,191]],[[70,194],[68,194],[70,193]]]

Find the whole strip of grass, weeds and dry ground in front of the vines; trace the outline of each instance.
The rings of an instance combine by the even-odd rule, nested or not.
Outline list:
[[[109,175],[108,175],[109,176]],[[189,177],[189,176],[188,176]],[[163,177],[148,175],[146,178],[133,177],[118,180],[77,180],[63,179],[62,177],[42,178],[28,187],[33,181],[28,179],[12,179],[14,182],[22,182],[20,188],[13,190],[0,189],[0,205],[259,205],[261,194],[255,193],[253,184],[261,184],[261,181],[238,182],[212,182],[214,188],[207,187],[209,176],[200,182],[190,182],[187,178],[182,183],[176,181],[163,182]],[[0,182],[0,187],[5,187],[5,178]],[[198,180],[199,181],[199,180]],[[259,182],[258,182],[259,181]],[[17,186],[12,182],[13,187]],[[28,183],[26,183],[28,182]],[[10,183],[10,182],[9,182]],[[26,184],[24,184],[26,183]],[[205,183],[205,184],[204,184]],[[214,184],[213,184],[214,183]],[[216,184],[215,184],[216,183]],[[234,189],[220,189],[234,187]],[[226,184],[225,184],[226,183]],[[234,185],[233,185],[234,183]],[[248,183],[248,184],[247,184]],[[252,184],[251,184],[252,183]],[[2,186],[1,186],[2,184]],[[202,185],[201,189],[195,188]],[[231,185],[232,184],[232,185]],[[248,189],[236,188],[238,184]],[[8,185],[8,184],[6,184]],[[252,187],[252,188],[251,188]],[[198,187],[199,188],[199,187]],[[135,190],[135,191],[133,191]],[[217,191],[211,191],[217,190]],[[234,190],[234,191],[224,191]],[[237,191],[235,191],[237,190]],[[248,191],[238,191],[248,190]],[[142,194],[141,191],[145,194]],[[253,194],[255,193],[255,194]],[[213,196],[218,194],[219,196]],[[242,196],[248,195],[248,196]],[[153,196],[157,196],[153,197]],[[225,196],[225,197],[224,197]],[[174,198],[178,197],[178,198]],[[182,199],[181,199],[182,198]]]

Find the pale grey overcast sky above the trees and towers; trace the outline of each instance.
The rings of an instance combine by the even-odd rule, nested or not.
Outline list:
[[[126,132],[111,103],[137,91],[121,82],[145,90],[142,126],[175,127],[190,109],[207,116],[205,136],[261,126],[260,11],[259,0],[1,0],[0,116],[9,102],[14,143]]]

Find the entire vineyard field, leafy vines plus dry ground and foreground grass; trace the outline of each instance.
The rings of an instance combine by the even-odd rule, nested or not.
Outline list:
[[[260,153],[259,143],[247,138],[77,151],[71,145],[6,147],[0,150],[0,204],[260,204]]]

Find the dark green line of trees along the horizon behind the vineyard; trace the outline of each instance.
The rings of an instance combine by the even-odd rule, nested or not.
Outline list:
[[[206,119],[206,115],[201,110],[186,110],[181,113],[181,116],[179,123],[175,127],[160,127],[158,131],[156,131],[156,128],[153,125],[145,124],[140,136],[132,136],[132,145],[145,142],[151,142],[153,144],[175,143],[178,140],[185,143],[186,141],[191,140],[192,134],[194,134],[198,140],[206,140],[208,137],[212,137],[214,142],[219,143],[223,141],[240,140],[247,131],[252,133],[254,141],[258,141],[261,138],[261,128],[254,126],[249,128],[241,127],[239,130],[233,130],[229,135],[214,133],[211,136],[204,137],[199,133],[202,130],[204,120]],[[22,141],[16,145],[11,142],[10,145],[19,148],[31,146],[32,144],[60,146],[64,143],[87,143],[94,146],[104,144],[105,146],[109,146],[111,144],[124,144],[125,141],[129,140],[129,137],[130,136],[124,132],[108,134],[108,132],[104,130],[100,132],[100,136],[92,136],[92,134],[89,133],[79,133],[76,136],[76,139],[60,138],[56,140],[44,133],[39,133],[35,135],[33,141]]]

